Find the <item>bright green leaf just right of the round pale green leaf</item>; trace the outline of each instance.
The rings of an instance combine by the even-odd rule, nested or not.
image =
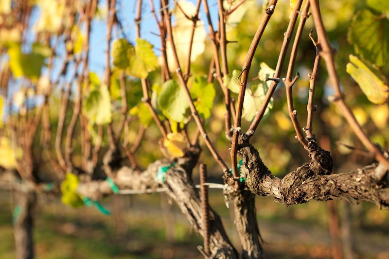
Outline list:
[[[191,97],[194,100],[196,110],[204,119],[211,116],[211,108],[216,91],[212,83],[207,82],[206,77],[196,76],[191,88]]]

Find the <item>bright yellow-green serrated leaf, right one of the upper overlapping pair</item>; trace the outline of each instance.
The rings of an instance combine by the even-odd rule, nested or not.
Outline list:
[[[154,46],[145,39],[136,39],[137,45],[128,45],[129,67],[125,70],[134,77],[146,78],[148,73],[158,68],[158,58]]]

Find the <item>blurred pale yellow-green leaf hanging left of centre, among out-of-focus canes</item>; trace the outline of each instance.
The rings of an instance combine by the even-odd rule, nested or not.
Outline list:
[[[101,85],[98,89],[90,90],[83,102],[83,113],[91,124],[107,124],[111,122],[111,98],[108,87]]]

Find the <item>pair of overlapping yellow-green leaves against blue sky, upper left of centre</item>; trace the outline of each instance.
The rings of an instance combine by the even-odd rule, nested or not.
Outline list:
[[[134,77],[146,78],[149,72],[158,68],[158,58],[150,42],[138,38],[136,43],[134,47],[126,39],[115,40],[111,51],[113,65]]]

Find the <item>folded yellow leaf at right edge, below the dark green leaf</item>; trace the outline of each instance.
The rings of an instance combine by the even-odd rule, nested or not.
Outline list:
[[[363,93],[373,104],[384,104],[389,99],[389,86],[385,85],[361,60],[350,55],[346,71],[361,87]]]

